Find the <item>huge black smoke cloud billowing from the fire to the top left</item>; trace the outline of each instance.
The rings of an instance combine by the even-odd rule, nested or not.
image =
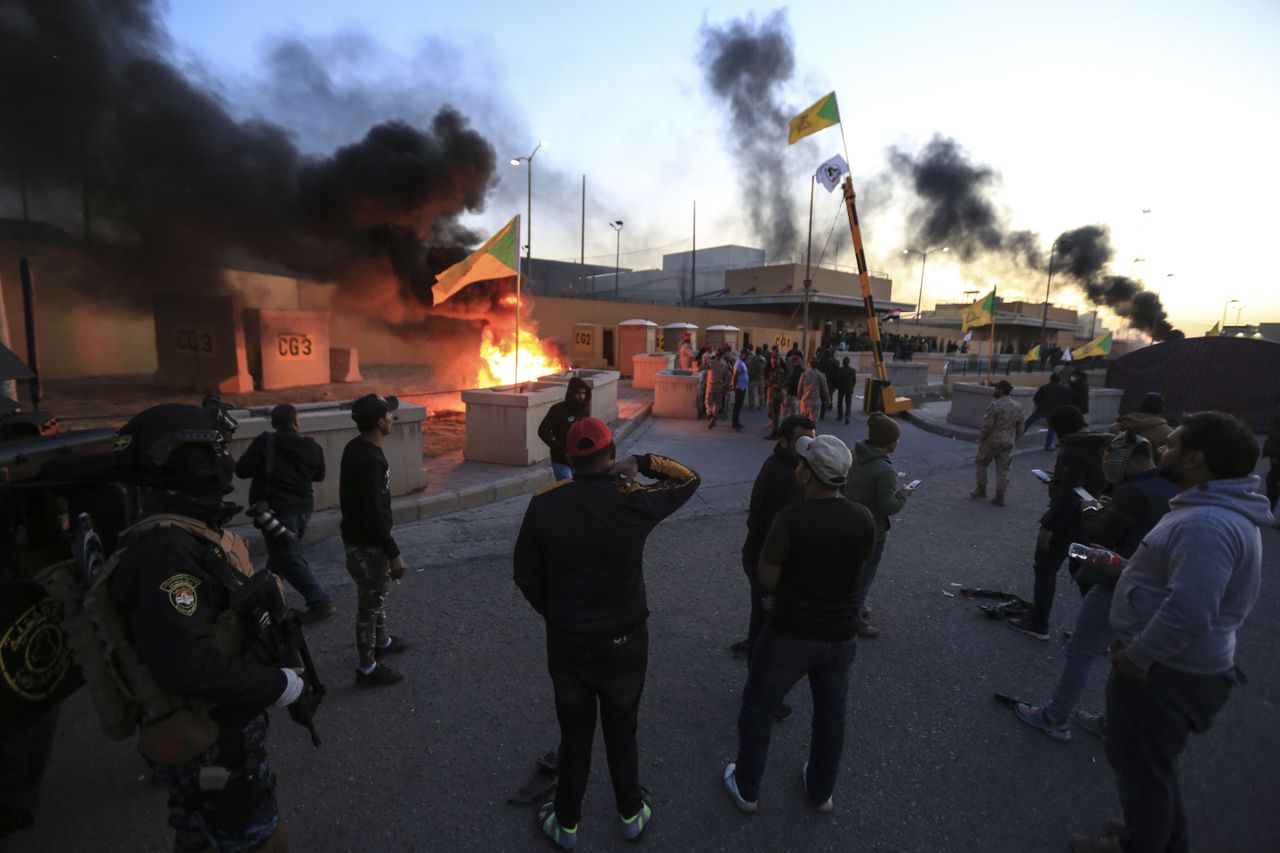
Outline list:
[[[5,183],[35,218],[77,223],[111,270],[96,295],[140,309],[248,265],[338,280],[348,304],[394,277],[425,311],[494,182],[493,147],[448,106],[328,156],[234,119],[175,68],[151,0],[0,0],[0,114]]]

